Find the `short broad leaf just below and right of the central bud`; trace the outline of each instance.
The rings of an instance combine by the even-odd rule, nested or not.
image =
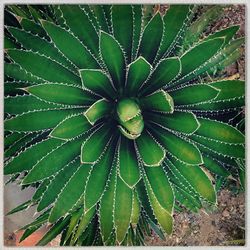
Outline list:
[[[144,130],[135,141],[138,153],[145,166],[159,166],[165,158],[165,150]]]

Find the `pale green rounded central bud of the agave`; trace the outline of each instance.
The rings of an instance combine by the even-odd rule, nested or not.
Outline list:
[[[133,99],[122,99],[116,108],[119,130],[129,139],[136,139],[141,135],[144,121],[139,105]]]

